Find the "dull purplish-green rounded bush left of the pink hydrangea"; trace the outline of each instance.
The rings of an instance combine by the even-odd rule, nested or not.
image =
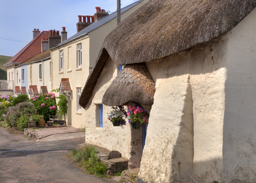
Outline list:
[[[31,117],[32,115],[36,115],[36,107],[31,102],[21,102],[16,106],[10,107],[9,111],[6,115],[6,121],[10,126],[15,127],[17,126],[16,121],[21,115],[27,115]]]

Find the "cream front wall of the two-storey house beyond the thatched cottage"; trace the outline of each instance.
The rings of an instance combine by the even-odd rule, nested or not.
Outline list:
[[[77,45],[82,45],[82,66],[77,67]],[[60,51],[64,51],[64,69],[59,70]],[[61,78],[69,78],[70,86],[72,88],[72,99],[68,98],[68,116],[67,123],[72,124],[73,127],[85,127],[85,111],[77,110],[77,88],[85,85],[86,79],[89,76],[89,37],[84,37],[80,40],[73,41],[68,45],[59,49],[51,51],[52,61],[52,89],[60,87]],[[58,94],[56,94],[58,96]],[[57,101],[58,102],[58,101]],[[72,120],[71,120],[72,119]],[[71,120],[71,121],[70,121]]]

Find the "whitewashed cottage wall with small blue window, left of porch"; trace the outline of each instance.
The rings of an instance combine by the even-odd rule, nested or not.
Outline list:
[[[102,74],[100,75],[92,98],[85,107],[85,142],[93,145],[102,146],[109,150],[119,151],[122,157],[130,158],[131,150],[131,135],[130,125],[120,127],[113,126],[110,120],[108,120],[107,113],[111,111],[111,107],[104,106],[104,127],[96,127],[98,117],[97,104],[102,104],[102,96],[104,95],[111,82],[117,76],[117,66],[115,63],[108,59]]]

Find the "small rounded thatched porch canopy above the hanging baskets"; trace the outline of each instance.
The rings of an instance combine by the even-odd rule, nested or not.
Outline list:
[[[155,91],[154,80],[145,63],[126,65],[105,92],[102,103],[123,106],[132,101],[151,106]]]

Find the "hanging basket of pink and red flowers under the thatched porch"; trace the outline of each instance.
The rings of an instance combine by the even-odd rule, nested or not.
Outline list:
[[[141,107],[132,107],[128,106],[127,110],[127,118],[132,126],[132,129],[138,129],[140,128],[141,124],[146,124],[146,117],[144,113],[146,112],[145,109],[142,109]]]

